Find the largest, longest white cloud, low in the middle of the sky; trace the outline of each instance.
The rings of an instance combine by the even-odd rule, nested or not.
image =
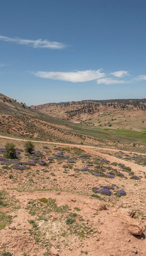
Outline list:
[[[99,70],[86,70],[86,71],[76,71],[76,72],[35,72],[35,76],[40,78],[48,78],[54,80],[62,80],[68,82],[87,82],[102,78],[105,76],[105,73],[101,73],[102,69]]]

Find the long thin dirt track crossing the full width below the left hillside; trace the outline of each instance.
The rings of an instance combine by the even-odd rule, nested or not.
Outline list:
[[[18,140],[18,141],[29,141],[29,140],[26,140],[26,139],[17,139],[17,138],[11,138],[11,137],[6,137],[6,136],[2,136],[0,135],[0,138],[2,139],[9,139],[9,140]],[[102,149],[102,150],[107,150],[107,151],[114,151],[114,152],[118,152],[119,150],[117,149],[113,149],[113,148],[104,148],[104,147],[95,147],[95,146],[87,146],[87,145],[78,145],[78,144],[67,144],[67,143],[59,143],[59,142],[47,142],[47,141],[39,141],[39,140],[31,140],[31,142],[38,142],[38,143],[46,143],[46,144],[57,144],[57,145],[62,145],[62,146],[70,146],[70,147],[80,147],[80,148],[94,148],[98,151],[98,149]],[[125,150],[122,150],[124,153],[129,153],[129,151],[125,151]],[[138,154],[138,155],[144,155],[144,154],[141,154],[141,153],[137,153],[137,152],[133,152],[132,151],[132,154]]]

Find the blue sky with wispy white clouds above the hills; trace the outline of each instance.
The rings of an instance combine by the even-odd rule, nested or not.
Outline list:
[[[145,0],[1,0],[0,92],[38,105],[146,97]]]

